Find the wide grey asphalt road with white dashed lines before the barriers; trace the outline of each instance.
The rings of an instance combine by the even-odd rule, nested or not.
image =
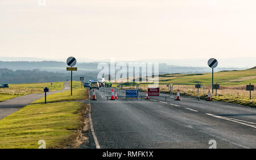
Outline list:
[[[90,91],[92,96],[92,90]],[[256,108],[194,98],[90,100],[100,148],[256,148]]]

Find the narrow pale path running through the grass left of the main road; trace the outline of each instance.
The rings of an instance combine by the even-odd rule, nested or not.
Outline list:
[[[57,92],[62,92],[69,89],[69,82],[65,82],[63,90],[47,92],[47,95],[55,94]],[[3,119],[11,113],[18,111],[20,108],[27,106],[31,102],[34,102],[35,100],[38,100],[42,97],[44,97],[44,93],[29,94],[0,102],[0,119]]]

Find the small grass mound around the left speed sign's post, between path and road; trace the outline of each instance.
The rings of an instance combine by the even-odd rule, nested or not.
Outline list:
[[[80,86],[81,87],[81,86]],[[71,96],[71,91],[63,91],[56,94],[51,94],[47,96],[47,103],[49,102],[63,102],[72,100],[86,100],[89,98],[89,92],[84,87],[73,89],[73,95]],[[44,98],[38,99],[31,104],[44,103]]]

